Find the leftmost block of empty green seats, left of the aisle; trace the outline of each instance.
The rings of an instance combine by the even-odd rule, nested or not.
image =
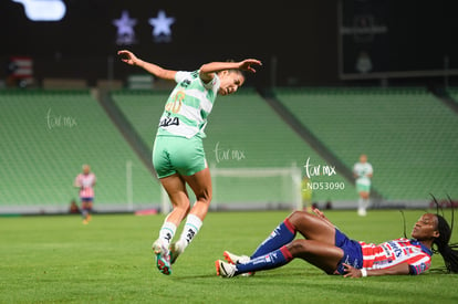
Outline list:
[[[97,176],[96,210],[126,209],[127,161],[134,202],[159,201],[158,182],[89,91],[3,91],[0,119],[0,212],[66,210],[83,164]]]

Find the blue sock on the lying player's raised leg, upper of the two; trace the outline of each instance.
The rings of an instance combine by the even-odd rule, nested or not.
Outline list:
[[[282,223],[280,223],[254,251],[250,259],[256,259],[258,256],[266,255],[282,245],[290,243],[295,238],[295,229],[291,224],[290,220],[287,218]]]

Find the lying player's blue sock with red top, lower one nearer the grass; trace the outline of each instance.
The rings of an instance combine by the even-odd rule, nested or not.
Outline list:
[[[288,264],[292,259],[290,251],[283,245],[281,249],[252,259],[248,263],[237,264],[236,274],[280,268]]]

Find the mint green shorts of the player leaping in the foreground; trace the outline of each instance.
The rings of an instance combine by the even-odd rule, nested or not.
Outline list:
[[[176,172],[191,176],[207,167],[202,139],[180,136],[156,136],[153,147],[153,166],[158,178]]]

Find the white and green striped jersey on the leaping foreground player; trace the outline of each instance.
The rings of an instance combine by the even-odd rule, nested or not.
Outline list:
[[[204,83],[199,71],[177,72],[175,86],[167,99],[159,120],[157,135],[181,136],[191,138],[206,135],[207,116],[210,114],[218,94],[220,81],[217,75],[209,83]]]

